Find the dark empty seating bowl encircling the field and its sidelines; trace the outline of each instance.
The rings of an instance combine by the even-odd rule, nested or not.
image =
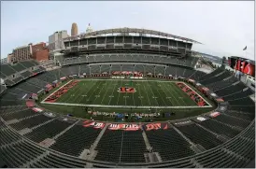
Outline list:
[[[142,58],[129,56],[95,54],[69,59],[64,61],[68,65],[34,77],[30,77],[31,72],[23,72],[21,76],[28,78],[20,83],[21,77],[10,80],[18,84],[1,90],[0,96],[0,154],[7,167],[243,168],[255,158],[255,103],[249,98],[253,92],[244,83],[220,68],[210,74],[193,69],[195,58],[183,61],[147,54]],[[117,62],[104,63],[106,60]],[[135,60],[144,63],[129,63]],[[169,128],[146,130],[143,124],[136,131],[128,131],[110,130],[107,123],[102,129],[85,127],[84,121],[65,121],[72,118],[57,113],[49,117],[44,113],[50,110],[35,112],[26,106],[25,99],[32,93],[44,92],[48,84],[61,77],[112,71],[192,78],[227,101],[227,110],[216,117],[202,115],[207,117],[203,121],[193,117],[190,124],[176,125],[167,120]],[[47,141],[50,144],[43,145]]]

